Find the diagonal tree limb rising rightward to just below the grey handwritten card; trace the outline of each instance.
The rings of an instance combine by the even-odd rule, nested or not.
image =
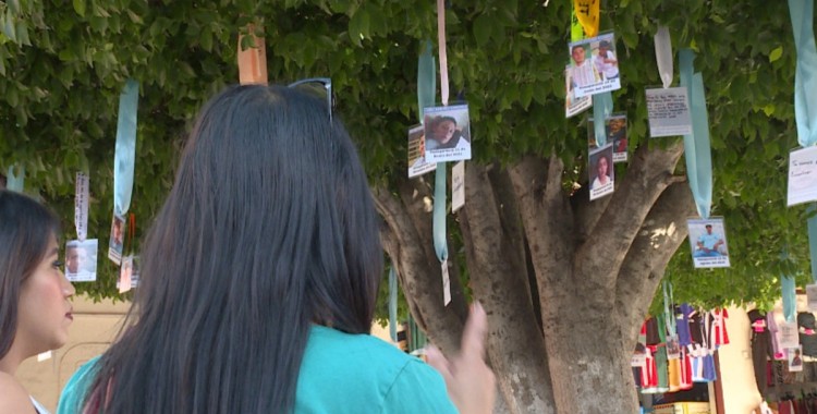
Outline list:
[[[585,279],[590,283],[586,289],[609,292],[614,288],[615,276],[644,218],[661,192],[674,181],[672,171],[683,149],[679,142],[667,150],[647,149],[644,145],[635,153],[626,178],[576,252],[578,275],[594,275]],[[599,257],[603,260],[595,259]]]

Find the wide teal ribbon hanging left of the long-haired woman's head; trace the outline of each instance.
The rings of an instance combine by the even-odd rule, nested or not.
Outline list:
[[[113,211],[124,216],[131,208],[133,171],[136,158],[136,112],[139,104],[139,83],[127,80],[119,96],[117,119],[117,151],[113,160]]]

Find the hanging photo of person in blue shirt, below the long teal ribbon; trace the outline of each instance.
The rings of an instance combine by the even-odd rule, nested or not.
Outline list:
[[[690,229],[692,260],[696,268],[730,266],[722,217],[688,219],[686,226]]]

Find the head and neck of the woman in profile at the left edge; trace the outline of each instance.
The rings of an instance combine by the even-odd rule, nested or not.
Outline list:
[[[39,203],[0,190],[0,413],[47,413],[14,373],[68,342],[74,288],[60,270],[59,227]]]

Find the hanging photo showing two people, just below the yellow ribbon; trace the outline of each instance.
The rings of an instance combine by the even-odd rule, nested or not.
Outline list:
[[[621,88],[612,33],[569,44],[569,78],[577,98]]]

